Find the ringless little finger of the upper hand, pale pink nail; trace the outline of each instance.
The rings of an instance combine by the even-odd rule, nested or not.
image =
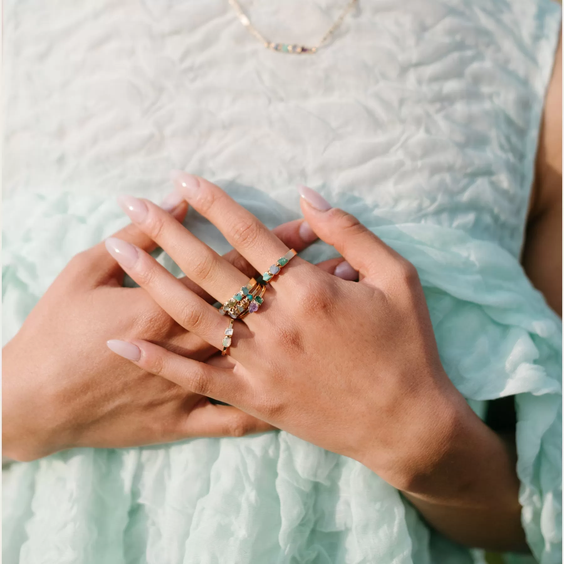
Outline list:
[[[108,347],[151,374],[230,406],[239,406],[248,394],[248,385],[236,371],[184,358],[148,341],[112,340]]]

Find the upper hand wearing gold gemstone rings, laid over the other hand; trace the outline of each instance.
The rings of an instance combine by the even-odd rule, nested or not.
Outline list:
[[[176,185],[259,272],[288,252],[214,184],[182,173]],[[133,340],[138,350],[130,360],[356,459],[396,488],[431,503],[439,498],[443,503],[483,503],[472,487],[481,464],[476,456],[491,464],[499,445],[492,444],[491,431],[444,372],[417,271],[318,193],[302,188],[301,205],[320,239],[359,271],[358,283],[293,258],[271,280],[261,309],[235,321],[230,356],[200,363]],[[129,215],[219,301],[248,282],[151,202],[137,200]],[[150,255],[136,249],[134,256],[121,263],[127,274],[180,325],[221,349],[228,319]],[[499,468],[483,473],[490,470]],[[485,479],[495,489],[496,478]],[[470,500],[463,499],[468,496]],[[518,506],[516,493],[511,503]]]

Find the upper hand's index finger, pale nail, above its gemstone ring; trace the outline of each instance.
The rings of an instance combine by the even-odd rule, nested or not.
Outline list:
[[[209,219],[259,272],[266,272],[288,252],[288,246],[275,233],[215,184],[183,171],[174,171],[173,178],[188,203]]]

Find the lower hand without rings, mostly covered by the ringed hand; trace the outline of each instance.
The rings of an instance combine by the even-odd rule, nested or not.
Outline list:
[[[170,213],[181,220],[187,205],[176,203]],[[275,231],[289,246],[303,249],[316,239],[303,223],[293,221]],[[116,236],[148,251],[155,246],[133,225]],[[255,274],[239,253],[226,257],[249,277]],[[320,266],[332,272],[341,262]],[[108,350],[105,342],[117,336],[142,337],[198,360],[218,352],[175,323],[145,290],[123,288],[123,277],[103,243],[76,255],[7,343],[2,355],[3,455],[34,460],[72,447],[130,447],[272,429]],[[214,301],[190,280],[183,282]]]

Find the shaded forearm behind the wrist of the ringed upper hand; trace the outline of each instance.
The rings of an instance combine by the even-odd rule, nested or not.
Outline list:
[[[458,543],[527,551],[515,463],[514,447],[466,413],[433,472],[415,479],[404,495],[431,526]]]

